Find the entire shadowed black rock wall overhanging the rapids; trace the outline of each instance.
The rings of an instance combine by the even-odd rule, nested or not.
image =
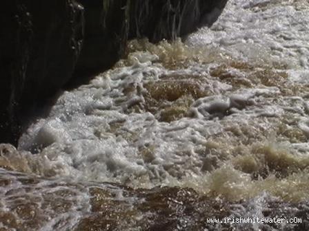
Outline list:
[[[17,144],[27,114],[64,85],[114,65],[127,39],[152,42],[212,25],[227,0],[4,1],[0,23],[0,142]],[[74,74],[73,74],[74,72]]]

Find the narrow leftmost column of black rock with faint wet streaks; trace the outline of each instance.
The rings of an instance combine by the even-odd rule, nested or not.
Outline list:
[[[30,15],[14,1],[0,11],[0,140],[11,142],[17,131],[14,107],[23,88],[32,41]]]

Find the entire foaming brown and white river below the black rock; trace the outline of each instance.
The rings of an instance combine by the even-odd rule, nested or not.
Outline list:
[[[308,230],[309,3],[230,0],[0,145],[0,230]],[[207,219],[297,217],[299,223]]]

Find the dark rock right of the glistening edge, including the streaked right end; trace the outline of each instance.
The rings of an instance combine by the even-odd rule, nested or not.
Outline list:
[[[85,8],[86,28],[74,80],[114,65],[125,51],[128,36],[148,37],[152,42],[185,36],[203,25],[212,25],[226,2],[79,0]]]

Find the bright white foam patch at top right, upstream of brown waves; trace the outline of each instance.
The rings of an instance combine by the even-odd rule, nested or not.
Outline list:
[[[308,69],[308,20],[308,1],[228,1],[217,23],[188,43],[219,47],[250,62]]]

